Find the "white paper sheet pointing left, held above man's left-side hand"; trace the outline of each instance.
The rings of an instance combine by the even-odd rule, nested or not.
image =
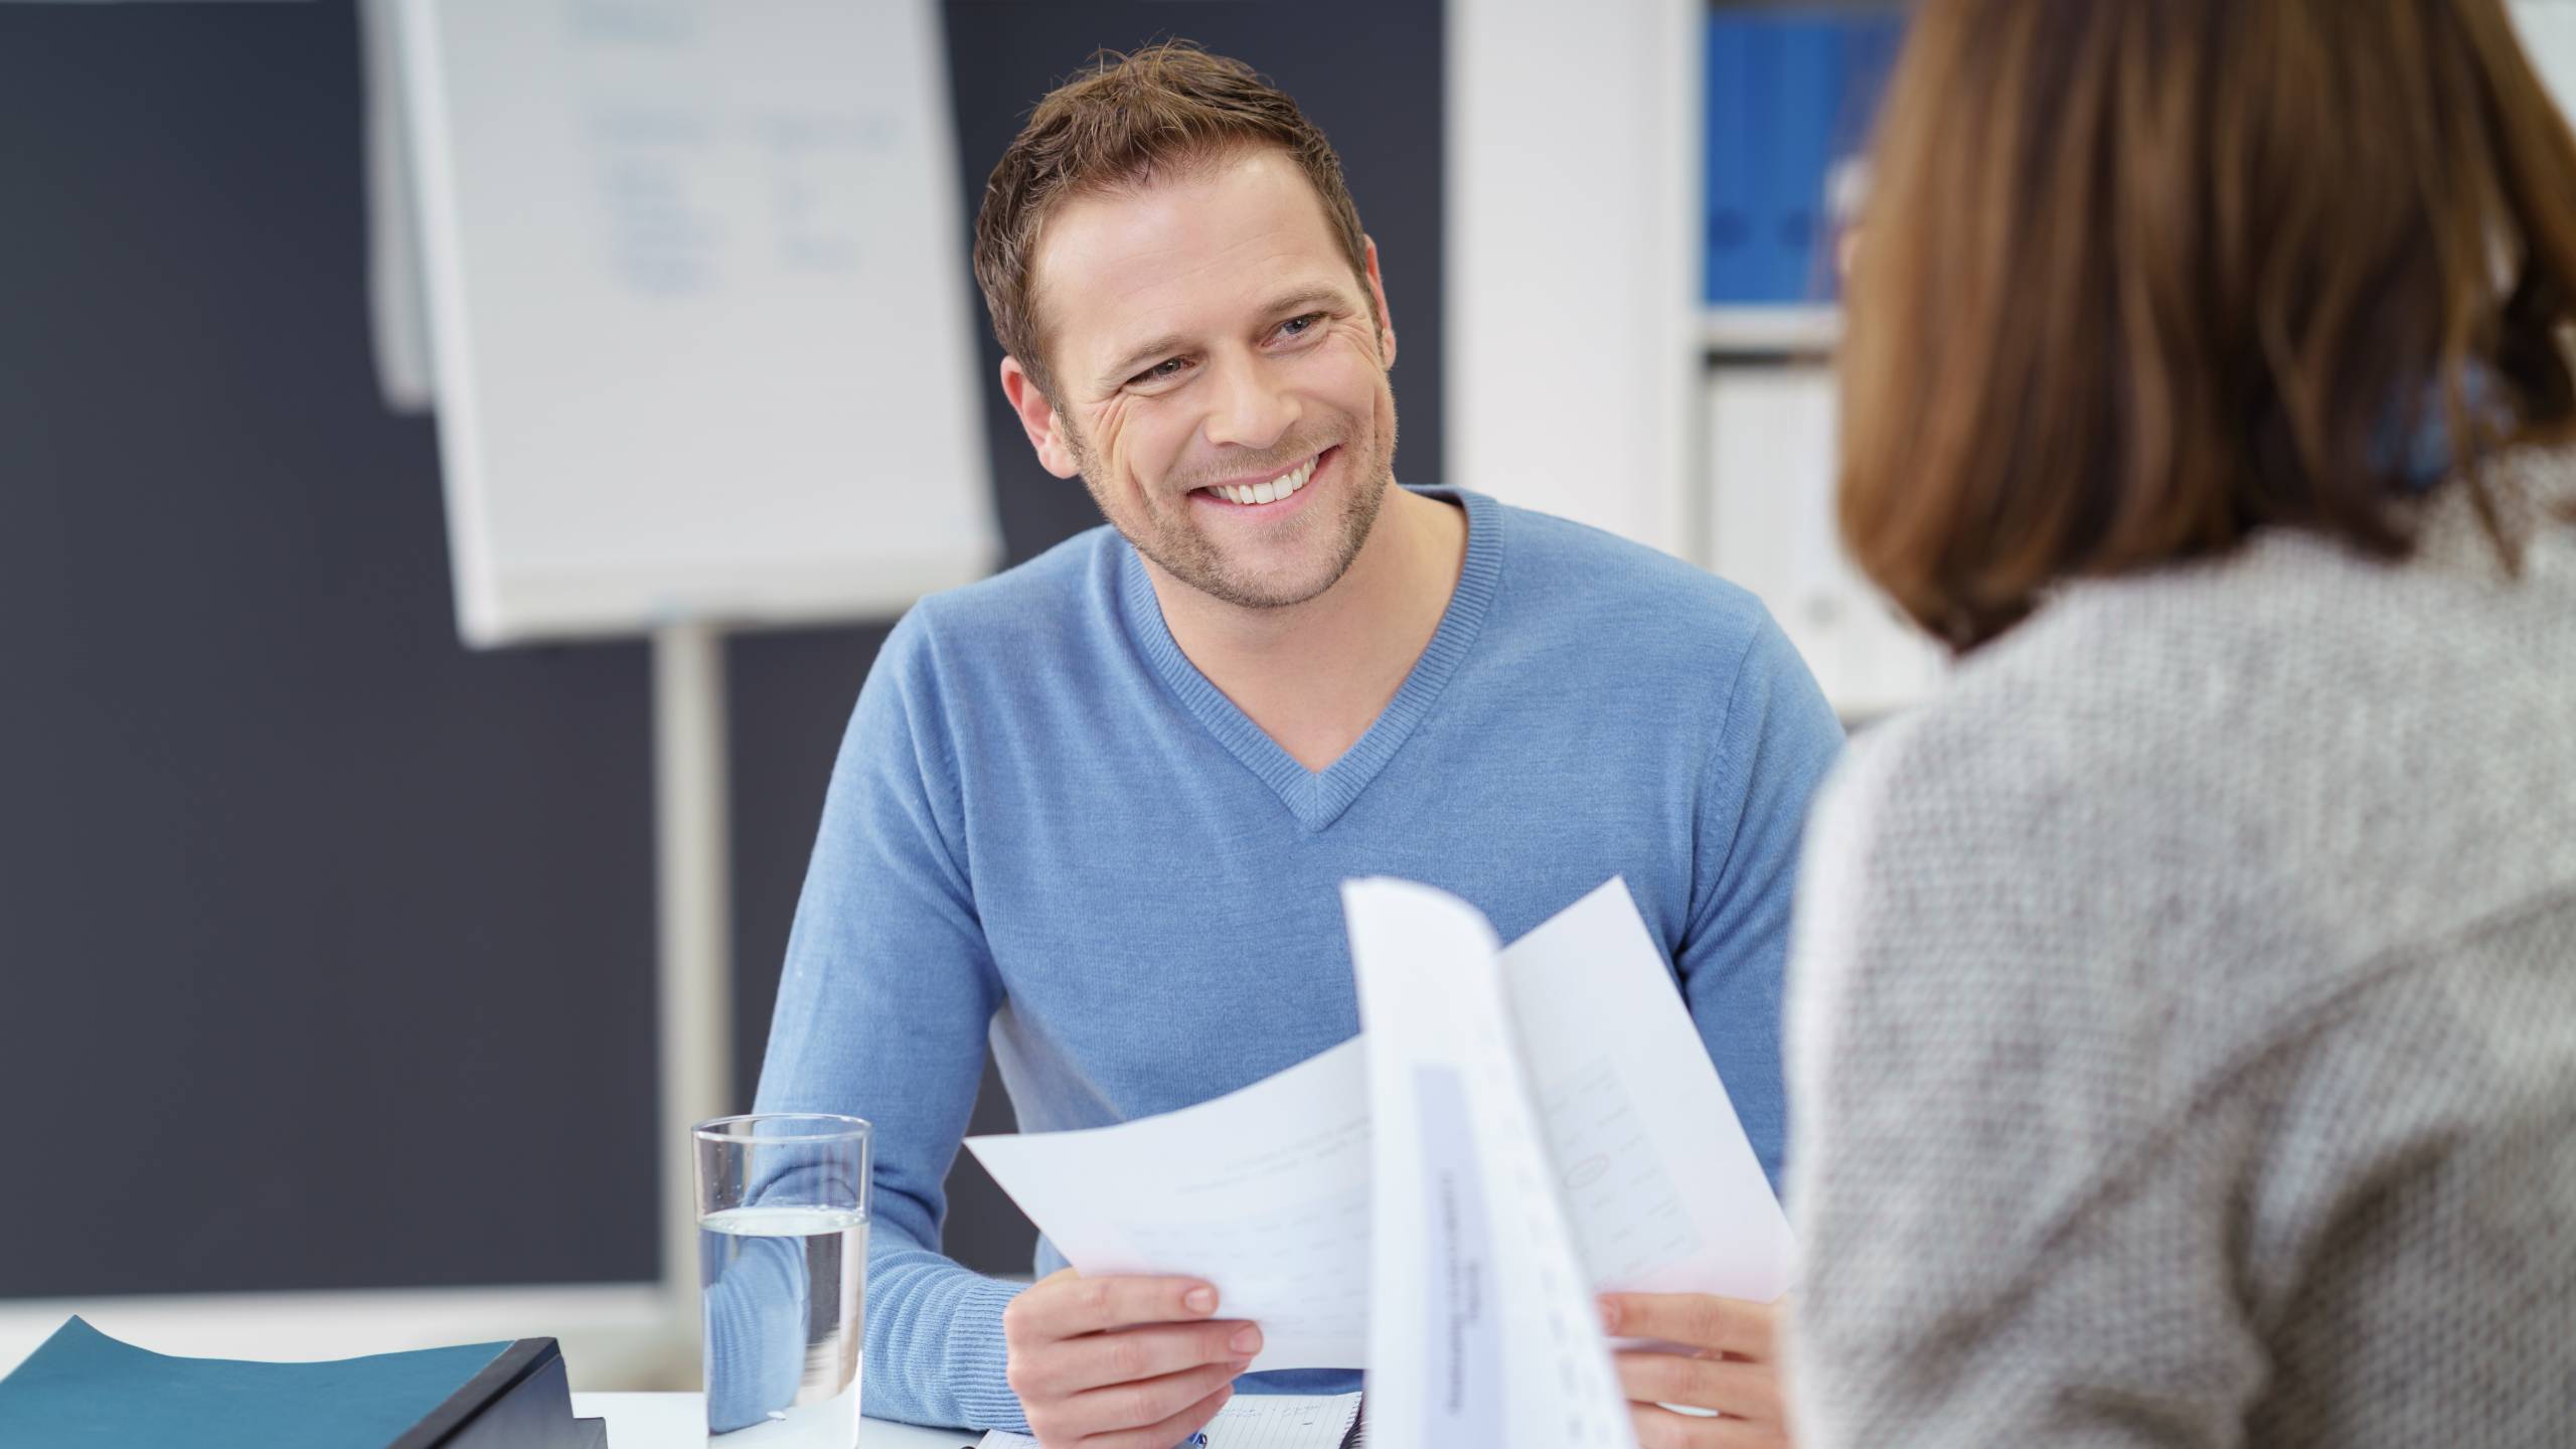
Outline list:
[[[1365,1361],[1360,1042],[1182,1111],[966,1145],[1082,1274],[1216,1284],[1218,1318],[1262,1325],[1252,1372]]]

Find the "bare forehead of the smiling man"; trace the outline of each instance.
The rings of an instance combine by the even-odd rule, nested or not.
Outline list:
[[[1321,196],[1278,150],[1069,199],[1030,278],[1048,351],[1077,369],[1285,294],[1358,291]]]

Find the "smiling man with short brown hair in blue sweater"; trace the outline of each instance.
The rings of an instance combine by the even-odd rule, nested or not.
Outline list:
[[[976,278],[1028,441],[1110,526],[922,601],[832,771],[760,1109],[876,1122],[868,1408],[1167,1449],[1224,1403],[1260,1325],[1188,1279],[976,1276],[938,1250],[940,1183],[987,1044],[1048,1132],[1350,1039],[1350,877],[1437,884],[1504,938],[1625,877],[1777,1178],[1788,890],[1842,732],[1762,606],[1396,485],[1376,245],[1236,62],[1154,46],[1048,95]],[[1752,1361],[1633,1356],[1631,1395],[1749,1423],[1641,1403],[1646,1444],[1775,1436],[1762,1310],[1620,1312],[1667,1307]],[[1327,1385],[1350,1374],[1244,1382]]]

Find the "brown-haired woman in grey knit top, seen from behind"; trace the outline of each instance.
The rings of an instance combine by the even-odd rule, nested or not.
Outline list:
[[[2576,144],[2501,0],[1924,0],[1801,1444],[2576,1441]]]

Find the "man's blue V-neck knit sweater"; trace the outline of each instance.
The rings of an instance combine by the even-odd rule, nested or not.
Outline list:
[[[1023,1132],[1303,1062],[1360,1029],[1350,877],[1455,892],[1504,941],[1625,877],[1777,1181],[1790,877],[1834,714],[1749,593],[1425,492],[1468,513],[1458,588],[1321,773],[1190,665],[1108,529],[925,598],[886,639],[832,768],[757,1104],[876,1124],[871,1413],[1025,1423],[1002,1377],[1018,1287],[938,1250],[987,1044]]]

